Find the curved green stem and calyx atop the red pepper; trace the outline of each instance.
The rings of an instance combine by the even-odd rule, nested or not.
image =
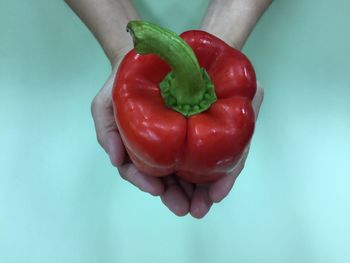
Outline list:
[[[208,73],[198,64],[191,47],[174,32],[157,25],[131,21],[127,25],[139,54],[156,54],[172,71],[160,83],[165,104],[189,117],[207,110],[215,101]]]

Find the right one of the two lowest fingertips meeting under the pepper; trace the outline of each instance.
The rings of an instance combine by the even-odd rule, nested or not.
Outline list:
[[[212,205],[213,202],[209,198],[208,187],[197,185],[192,196],[191,215],[198,219],[202,218],[208,213]]]

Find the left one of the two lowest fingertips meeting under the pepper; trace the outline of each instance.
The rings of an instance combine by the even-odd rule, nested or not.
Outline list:
[[[189,212],[190,203],[186,193],[182,190],[174,176],[164,178],[165,191],[161,200],[177,216],[184,216]]]

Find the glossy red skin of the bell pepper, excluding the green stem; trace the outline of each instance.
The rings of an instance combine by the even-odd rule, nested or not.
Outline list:
[[[140,171],[207,183],[234,168],[252,137],[256,77],[249,60],[219,38],[199,30],[180,37],[210,76],[216,101],[191,116],[170,108],[160,83],[172,68],[158,55],[133,49],[119,65],[113,86],[115,119]]]

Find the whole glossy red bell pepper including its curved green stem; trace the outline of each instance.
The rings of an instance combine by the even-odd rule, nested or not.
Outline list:
[[[115,119],[142,172],[217,180],[239,161],[254,130],[256,77],[238,50],[204,31],[175,33],[142,21],[113,86]]]

